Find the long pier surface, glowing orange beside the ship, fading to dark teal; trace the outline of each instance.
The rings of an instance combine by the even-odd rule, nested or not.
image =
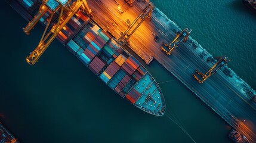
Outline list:
[[[120,33],[128,28],[125,24],[127,18],[133,21],[146,5],[142,1],[134,1],[133,7],[130,8],[124,1],[118,1],[118,3],[124,10],[123,14],[118,13],[116,10],[118,6],[114,1],[104,1],[104,3],[88,1],[92,10],[97,10],[93,19],[116,38],[119,38]],[[101,15],[104,15],[104,18]],[[255,91],[227,66],[224,67],[230,70],[233,77],[224,74],[222,71],[224,67],[222,67],[205,83],[197,83],[192,77],[193,73],[196,69],[201,72],[208,71],[214,63],[207,62],[206,59],[212,55],[191,37],[186,43],[180,43],[171,55],[165,55],[160,46],[162,42],[170,43],[175,38],[177,30],[181,29],[158,8],[155,8],[152,20],[145,20],[141,24],[129,39],[129,46],[136,48],[136,50],[131,48],[135,53],[140,51],[152,55],[229,125],[245,135],[249,142],[256,142],[256,104],[250,100],[251,96],[255,95]],[[159,42],[154,41],[153,33],[159,36]],[[195,48],[193,45],[198,47]]]

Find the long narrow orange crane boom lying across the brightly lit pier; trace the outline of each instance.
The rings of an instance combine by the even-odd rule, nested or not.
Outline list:
[[[128,41],[128,39],[131,37],[131,35],[135,32],[135,30],[138,29],[138,27],[141,25],[141,23],[143,23],[143,21],[146,18],[149,18],[153,9],[155,8],[155,6],[152,4],[152,2],[150,2],[144,9],[143,11],[140,13],[140,15],[138,15],[137,18],[135,18],[135,20],[131,23],[131,25],[128,27],[127,30],[125,30],[125,32],[121,35],[121,37],[118,39],[118,42],[121,42],[121,46],[125,45],[125,43]],[[141,21],[137,23],[138,20]],[[149,18],[150,20],[150,18]],[[129,31],[132,29],[132,27],[137,23],[137,26],[132,30],[131,33],[129,33]],[[129,33],[129,34],[128,34]]]

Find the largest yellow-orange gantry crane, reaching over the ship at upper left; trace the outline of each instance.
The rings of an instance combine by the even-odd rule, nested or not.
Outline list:
[[[70,4],[71,3],[71,4]],[[82,7],[82,10],[85,10],[88,15],[91,15],[91,9],[88,7],[86,0],[77,0],[71,2],[70,0],[44,0],[38,11],[38,14],[24,27],[24,32],[29,34],[30,30],[33,29],[39,19],[50,10],[51,16],[48,19],[47,26],[45,27],[42,38],[39,42],[39,45],[35,48],[33,52],[30,52],[30,55],[26,57],[27,63],[30,65],[35,64],[48,46],[53,42],[61,29],[66,25],[66,23],[73,17],[76,11]],[[60,11],[59,11],[60,9]],[[64,12],[66,11],[66,12]],[[54,23],[53,16],[55,13],[58,13],[57,23]],[[56,14],[57,15],[57,14]],[[53,24],[51,27],[50,25]],[[51,27],[51,28],[49,28]],[[49,28],[49,29],[48,29]]]

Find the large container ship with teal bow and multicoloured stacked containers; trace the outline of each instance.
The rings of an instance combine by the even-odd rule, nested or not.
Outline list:
[[[42,1],[38,0],[7,2],[27,21],[32,20],[42,4]],[[39,20],[43,26],[47,26],[51,7],[56,6],[48,4],[48,7]],[[122,98],[126,98],[147,113],[164,115],[165,99],[156,80],[113,36],[101,29],[84,11],[76,11],[60,30],[57,39]]]

